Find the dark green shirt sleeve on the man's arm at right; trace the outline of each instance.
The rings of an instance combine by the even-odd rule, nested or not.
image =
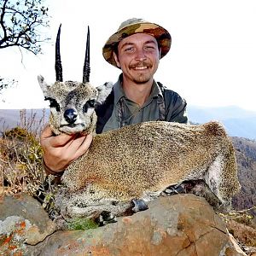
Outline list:
[[[173,90],[166,90],[166,121],[189,124],[187,102]]]

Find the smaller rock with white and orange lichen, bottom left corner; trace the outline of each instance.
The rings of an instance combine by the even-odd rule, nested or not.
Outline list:
[[[22,253],[26,244],[44,241],[55,224],[30,195],[4,196],[0,201],[0,255]]]

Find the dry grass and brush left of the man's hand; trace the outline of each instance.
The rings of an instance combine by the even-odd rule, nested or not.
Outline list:
[[[44,183],[43,150],[39,135],[45,125],[45,115],[37,119],[31,110],[20,111],[17,127],[2,131],[0,138],[0,195],[26,192],[35,195]],[[3,120],[4,122],[4,120]]]

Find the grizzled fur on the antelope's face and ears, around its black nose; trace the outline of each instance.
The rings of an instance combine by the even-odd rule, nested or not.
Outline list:
[[[49,85],[46,84],[41,75],[38,76],[38,82],[44,92],[45,100],[49,100],[49,125],[56,135],[94,131],[96,104],[104,102],[113,87],[111,83],[95,88],[89,83],[83,84],[73,81],[55,82],[55,84]],[[67,109],[73,109],[78,113],[78,118],[73,125],[70,125],[64,118]],[[86,111],[84,111],[85,109]]]

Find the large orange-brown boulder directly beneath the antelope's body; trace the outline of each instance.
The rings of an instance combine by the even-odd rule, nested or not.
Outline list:
[[[172,195],[95,230],[56,231],[28,255],[246,255],[201,197]]]

